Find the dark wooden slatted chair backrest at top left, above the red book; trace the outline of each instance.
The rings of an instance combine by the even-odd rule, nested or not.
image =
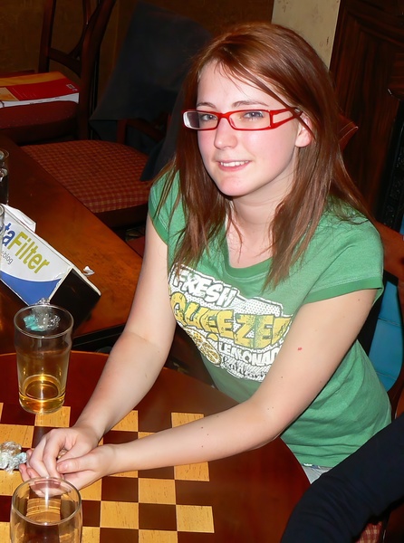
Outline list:
[[[43,29],[38,71],[49,71],[51,61],[73,71],[79,78],[78,136],[88,138],[88,120],[97,97],[98,58],[102,38],[116,0],[99,0],[95,7],[91,0],[82,0],[82,29],[71,51],[63,52],[53,46],[53,28],[58,0],[45,0]]]

